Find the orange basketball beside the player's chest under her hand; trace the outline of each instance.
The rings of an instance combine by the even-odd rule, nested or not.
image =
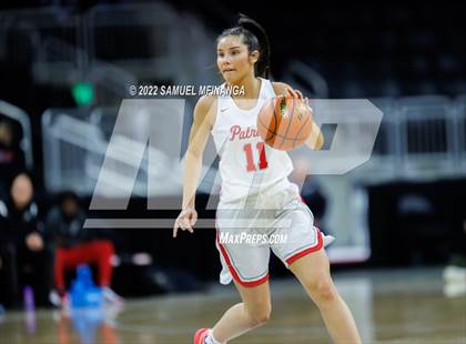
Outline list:
[[[312,111],[301,99],[277,95],[267,100],[257,115],[257,131],[270,146],[291,151],[306,141]]]

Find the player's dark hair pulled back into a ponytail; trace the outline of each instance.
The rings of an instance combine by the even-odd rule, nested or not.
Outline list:
[[[241,37],[243,43],[247,45],[250,52],[257,50],[260,55],[254,65],[254,74],[256,77],[269,78],[271,45],[265,30],[256,21],[240,13],[237,26],[224,30],[216,41],[219,42],[226,36]]]

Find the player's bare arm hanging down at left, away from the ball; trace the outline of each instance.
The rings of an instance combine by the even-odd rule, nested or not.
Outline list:
[[[194,108],[186,154],[184,155],[183,203],[182,211],[173,226],[173,236],[178,229],[193,232],[197,213],[195,212],[195,191],[201,178],[202,156],[211,131],[211,115],[214,108],[213,97],[202,97]]]

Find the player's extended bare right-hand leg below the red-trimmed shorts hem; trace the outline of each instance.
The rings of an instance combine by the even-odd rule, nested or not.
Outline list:
[[[297,259],[290,270],[317,305],[335,343],[361,343],[353,315],[332,281],[325,250]]]

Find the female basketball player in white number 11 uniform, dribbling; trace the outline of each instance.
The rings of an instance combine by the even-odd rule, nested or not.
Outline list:
[[[173,226],[173,236],[179,227],[193,232],[197,219],[194,194],[203,151],[212,133],[221,156],[222,175],[216,213],[216,246],[223,266],[220,280],[223,284],[234,281],[242,303],[227,310],[212,328],[199,330],[194,343],[226,343],[267,322],[271,249],[316,303],[332,338],[336,343],[359,343],[354,318],[332,281],[323,235],[313,226],[313,215],[301,201],[297,185],[287,179],[293,170],[291,159],[286,152],[265,145],[260,136],[246,134],[256,129],[256,117],[266,99],[284,93],[298,99],[303,95],[285,83],[265,79],[270,60],[267,37],[247,17],[241,16],[237,27],[225,30],[216,48],[224,85],[244,87],[244,94],[206,95],[199,100],[185,155],[183,209]],[[306,143],[312,149],[323,144],[315,123]],[[291,225],[280,225],[281,221],[288,221]],[[287,240],[284,244],[251,244],[222,243],[219,239],[222,233],[242,231],[281,233]]]

